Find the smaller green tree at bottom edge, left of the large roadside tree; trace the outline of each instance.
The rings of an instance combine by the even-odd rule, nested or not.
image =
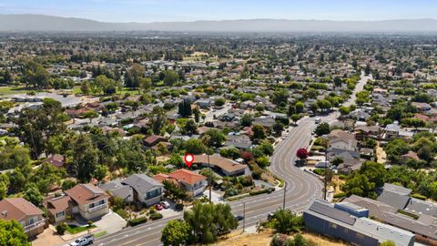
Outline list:
[[[162,230],[161,241],[166,246],[185,245],[189,239],[189,225],[185,221],[170,220]]]

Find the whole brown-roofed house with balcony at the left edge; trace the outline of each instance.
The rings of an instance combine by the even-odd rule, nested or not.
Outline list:
[[[48,226],[43,210],[24,198],[6,198],[0,200],[1,220],[16,220],[24,228],[27,237],[33,238]]]

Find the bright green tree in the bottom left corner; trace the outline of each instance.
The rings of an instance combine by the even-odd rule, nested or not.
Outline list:
[[[16,220],[0,220],[0,245],[27,246],[27,236],[23,226]]]

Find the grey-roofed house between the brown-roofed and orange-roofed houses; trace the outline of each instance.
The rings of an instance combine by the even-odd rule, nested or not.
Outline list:
[[[164,185],[145,174],[133,174],[122,182],[133,189],[133,199],[146,206],[156,204],[162,198]]]

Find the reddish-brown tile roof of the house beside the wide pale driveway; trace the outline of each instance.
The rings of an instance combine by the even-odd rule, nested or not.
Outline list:
[[[109,196],[105,192],[92,184],[78,184],[70,190],[66,190],[66,195],[71,197],[80,205],[86,205],[96,200],[102,200]]]

